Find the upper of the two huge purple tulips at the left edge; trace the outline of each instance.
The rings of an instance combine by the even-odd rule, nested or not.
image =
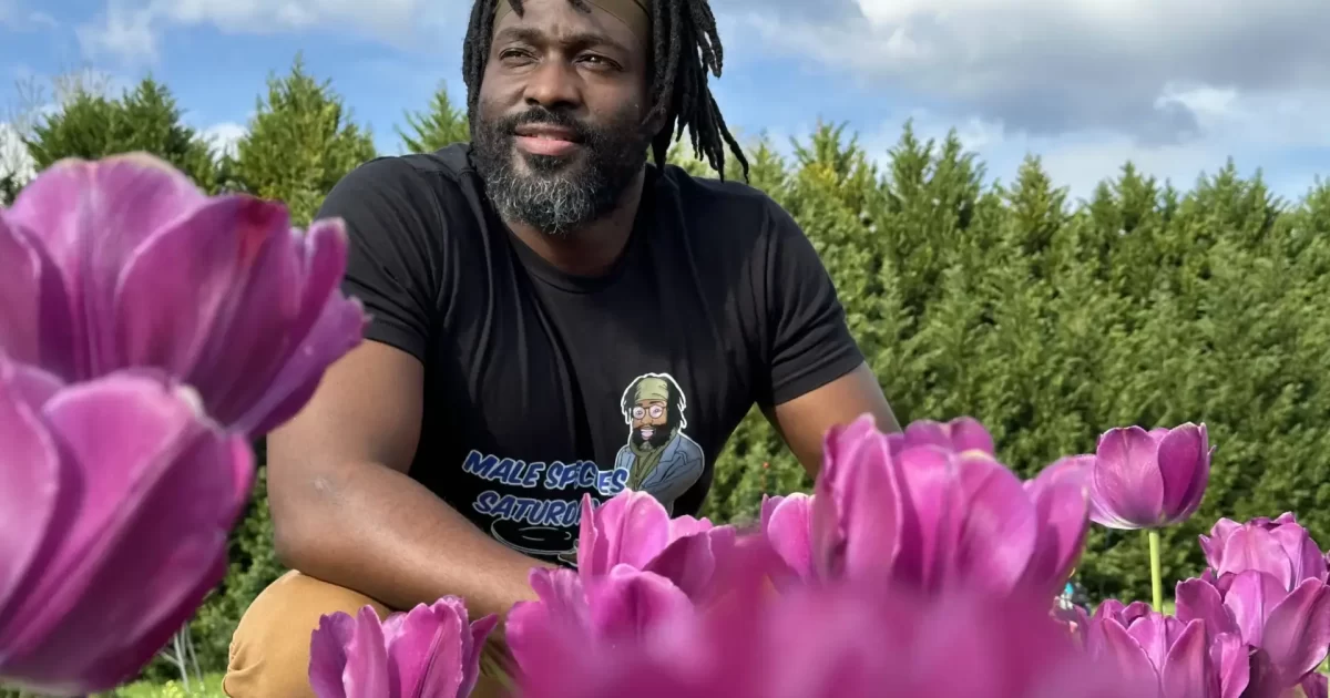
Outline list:
[[[160,368],[257,436],[360,339],[346,246],[340,221],[299,234],[146,154],[60,161],[0,210],[0,346],[66,382]]]

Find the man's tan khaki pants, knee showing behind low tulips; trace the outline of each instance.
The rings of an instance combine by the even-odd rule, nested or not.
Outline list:
[[[231,698],[314,698],[310,634],[319,626],[319,616],[339,610],[355,616],[366,604],[380,618],[388,614],[387,606],[364,594],[287,572],[263,589],[235,628],[222,691]],[[487,645],[481,665],[493,666],[495,653],[493,645]],[[499,698],[507,693],[499,679],[481,673],[471,695]]]

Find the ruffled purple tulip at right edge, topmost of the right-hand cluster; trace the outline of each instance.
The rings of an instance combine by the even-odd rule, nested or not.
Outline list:
[[[1254,569],[1274,574],[1290,592],[1305,580],[1327,581],[1325,553],[1291,512],[1246,524],[1220,519],[1201,536],[1201,549],[1218,578]]]

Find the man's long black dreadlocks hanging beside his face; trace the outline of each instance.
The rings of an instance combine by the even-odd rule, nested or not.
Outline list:
[[[471,9],[471,24],[463,44],[462,78],[467,84],[467,108],[476,113],[480,100],[480,80],[489,60],[493,37],[495,8],[508,3],[521,16],[523,0],[476,0]],[[585,0],[568,0],[583,12],[591,12]],[[650,0],[652,52],[650,101],[652,110],[642,120],[649,124],[664,117],[664,126],[652,138],[652,154],[657,166],[665,165],[670,141],[684,136],[686,128],[693,152],[725,178],[725,146],[743,169],[747,181],[749,164],[738,141],[725,128],[725,117],[706,85],[706,73],[721,76],[724,49],[716,31],[716,16],[706,0]]]

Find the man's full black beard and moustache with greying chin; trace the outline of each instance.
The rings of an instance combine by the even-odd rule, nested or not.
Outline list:
[[[646,164],[646,138],[637,109],[625,105],[604,126],[589,126],[568,112],[533,106],[501,118],[471,124],[471,148],[485,193],[499,215],[551,235],[564,235],[596,221],[618,205],[624,190]],[[568,157],[533,156],[513,145],[523,124],[547,124],[572,130],[581,153]],[[523,172],[517,158],[525,161]]]

